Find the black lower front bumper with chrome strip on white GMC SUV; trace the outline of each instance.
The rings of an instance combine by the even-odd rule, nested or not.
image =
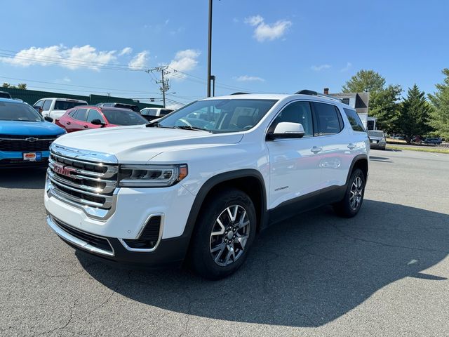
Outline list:
[[[47,216],[47,224],[69,246],[113,264],[143,267],[180,265],[189,246],[189,237],[183,234],[180,237],[161,239],[156,249],[151,252],[129,251],[119,239],[99,237],[76,230],[50,215]],[[102,244],[98,244],[100,240]]]

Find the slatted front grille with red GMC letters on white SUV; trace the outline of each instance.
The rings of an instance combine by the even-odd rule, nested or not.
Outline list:
[[[81,206],[111,209],[118,166],[50,153],[48,179],[56,197]]]

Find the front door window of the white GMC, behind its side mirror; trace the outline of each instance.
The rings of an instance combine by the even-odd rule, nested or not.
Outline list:
[[[309,102],[294,102],[284,107],[281,113],[274,119],[272,126],[269,127],[269,132],[273,132],[276,125],[281,121],[300,123],[304,127],[304,137],[314,136],[314,124]]]

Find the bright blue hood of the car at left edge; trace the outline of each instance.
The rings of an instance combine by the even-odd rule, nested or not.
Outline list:
[[[57,136],[63,128],[48,121],[0,121],[0,134],[17,136]]]

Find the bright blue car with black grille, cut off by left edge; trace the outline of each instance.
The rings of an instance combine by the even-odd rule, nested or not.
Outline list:
[[[47,166],[51,143],[64,129],[27,103],[0,98],[0,169]]]

